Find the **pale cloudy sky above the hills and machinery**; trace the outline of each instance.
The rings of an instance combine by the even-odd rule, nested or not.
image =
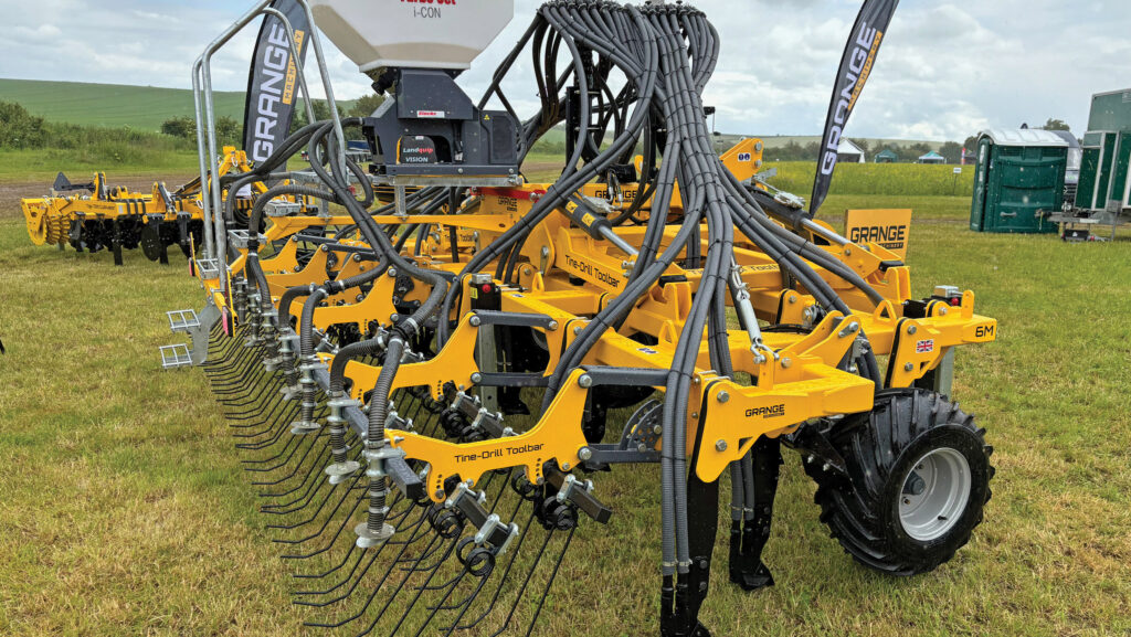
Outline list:
[[[476,0],[459,0],[476,1]],[[473,96],[528,26],[537,0],[516,0],[515,19],[460,77]],[[860,0],[700,0],[719,31],[722,58],[705,93],[718,130],[819,135]],[[191,86],[204,48],[247,0],[0,0],[0,77]],[[845,135],[961,141],[985,128],[1065,120],[1087,128],[1090,95],[1131,87],[1128,0],[903,0]],[[254,28],[214,64],[218,91],[242,91]],[[338,97],[369,80],[333,45]],[[504,89],[520,114],[536,107],[526,58]],[[317,84],[317,83],[316,83]],[[312,87],[312,92],[320,91]],[[3,96],[0,95],[0,98]]]

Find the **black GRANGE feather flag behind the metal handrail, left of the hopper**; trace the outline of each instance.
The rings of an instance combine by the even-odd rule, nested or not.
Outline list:
[[[299,54],[305,58],[307,35],[310,33],[307,11],[295,0],[275,0],[271,7],[291,21]],[[259,28],[256,54],[251,59],[251,72],[248,77],[243,148],[248,152],[249,160],[266,160],[286,139],[294,119],[297,93],[299,76],[291,55],[286,26],[276,16],[267,16]]]

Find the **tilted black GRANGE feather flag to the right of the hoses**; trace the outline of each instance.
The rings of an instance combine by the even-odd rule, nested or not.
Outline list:
[[[832,182],[832,171],[837,167],[837,148],[840,146],[840,135],[852,115],[864,84],[872,75],[875,57],[880,52],[883,35],[888,32],[891,15],[896,12],[899,0],[864,0],[864,6],[856,18],[848,46],[840,59],[840,70],[837,71],[837,84],[832,88],[832,102],[824,120],[824,135],[821,138],[821,152],[817,161],[817,179],[813,181],[813,196],[809,201],[809,215],[813,216],[824,203]]]

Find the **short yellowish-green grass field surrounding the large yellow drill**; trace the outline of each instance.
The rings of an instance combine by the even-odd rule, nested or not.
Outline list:
[[[138,251],[115,268],[31,246],[17,197],[38,192],[0,175],[0,634],[299,632],[310,616],[204,375],[157,370],[163,312],[199,305],[199,286]],[[875,575],[828,539],[788,454],[765,556],[777,586],[741,593],[719,561],[714,635],[1131,632],[1131,242],[975,234],[968,205],[834,195],[824,215],[914,208],[914,292],[961,285],[1000,320],[955,387],[995,447],[985,523],[933,574]],[[595,479],[613,520],[579,532],[537,634],[655,634],[657,475]]]

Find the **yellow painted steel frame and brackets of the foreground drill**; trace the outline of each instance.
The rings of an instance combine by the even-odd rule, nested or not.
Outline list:
[[[748,179],[760,165],[760,145],[746,140],[724,156],[724,162],[740,179]],[[739,162],[740,155],[750,162]],[[748,165],[749,164],[749,165]],[[474,204],[452,215],[379,216],[379,224],[433,224],[442,231],[430,235],[420,248],[421,267],[459,272],[460,264],[451,261],[447,227],[459,231],[460,259],[468,255],[467,244],[478,233],[483,243],[506,232],[529,212],[534,200],[546,191],[544,184],[517,188],[484,188]],[[631,205],[637,191],[634,184],[622,188],[622,197],[611,201],[614,209]],[[584,195],[607,197],[604,184],[588,184]],[[473,207],[474,206],[474,207]],[[647,206],[644,207],[647,214]],[[353,223],[349,217],[296,216],[271,219],[267,230],[269,241],[290,238],[291,241],[275,256],[264,258],[273,296],[290,286],[321,283],[333,249],[320,248],[305,267],[299,267],[299,240],[302,230],[312,226],[342,227]],[[621,227],[619,234],[629,243],[639,244],[644,229]],[[668,229],[665,243],[675,235]],[[810,239],[813,239],[812,236]],[[406,249],[415,253],[415,239]],[[706,249],[706,235],[702,241]],[[355,240],[344,243],[362,244]],[[815,244],[815,243],[814,243]],[[857,413],[872,407],[874,386],[870,380],[839,369],[863,330],[873,352],[889,358],[891,387],[908,387],[938,367],[942,356],[952,347],[985,343],[996,336],[996,321],[974,312],[974,293],[966,292],[960,304],[943,302],[929,305],[924,318],[903,316],[903,303],[912,299],[910,275],[906,266],[893,265],[897,257],[874,244],[849,243],[844,247],[818,246],[831,257],[847,265],[886,299],[875,307],[866,296],[841,281],[834,273],[814,266],[814,270],[840,294],[851,309],[848,316],[832,312],[820,320],[814,312],[817,304],[803,289],[783,287],[778,266],[752,246],[739,244],[735,258],[741,266],[741,278],[748,285],[758,317],[770,324],[808,326],[803,334],[768,332],[763,341],[771,356],[758,361],[750,351],[744,333],[734,330],[729,348],[736,372],[750,380],[718,377],[709,368],[706,343],[701,344],[694,372],[693,395],[689,398],[688,449],[694,447],[696,437],[702,436],[702,448],[694,467],[706,481],[718,479],[723,470],[741,458],[762,436],[777,437],[795,430],[814,418]],[[478,247],[476,246],[476,249]],[[527,258],[517,270],[516,287],[504,287],[501,309],[504,312],[537,313],[550,317],[556,329],[541,329],[551,353],[543,372],[549,376],[561,353],[587,325],[586,317],[597,313],[628,282],[629,255],[605,241],[598,241],[582,230],[572,227],[564,214],[552,215],[530,233],[523,255]],[[347,258],[342,252],[336,278],[343,279],[364,270],[364,262]],[[231,266],[232,272],[243,268],[245,255]],[[490,269],[490,268],[489,268]],[[672,365],[675,344],[691,308],[691,300],[699,285],[701,270],[672,266],[663,286],[654,287],[637,303],[619,332],[608,330],[584,361],[586,365],[611,365],[665,370]],[[584,283],[578,285],[577,279]],[[207,283],[207,282],[206,282]],[[395,279],[381,277],[364,296],[349,299],[338,295],[314,312],[313,325],[326,329],[337,324],[354,324],[364,333],[370,321],[390,325],[395,312],[391,302]],[[420,286],[418,286],[420,287]],[[428,290],[418,289],[415,299],[423,299]],[[426,387],[434,398],[442,398],[443,386],[452,382],[460,389],[475,385],[473,377],[481,372],[475,361],[475,346],[480,327],[473,325],[469,294],[450,319],[458,324],[447,345],[431,360],[402,364],[394,378],[394,389]],[[225,300],[216,295],[218,303]],[[653,336],[657,344],[641,345],[631,338],[642,333]],[[323,354],[328,361],[333,356]],[[353,396],[360,398],[365,388],[372,387],[380,373],[379,367],[351,361],[345,373],[352,380]],[[526,433],[474,444],[452,444],[422,437],[406,431],[387,431],[389,444],[407,457],[429,463],[430,494],[435,501],[443,496],[443,481],[452,475],[463,480],[478,480],[489,471],[525,467],[528,475],[542,475],[542,465],[551,459],[576,464],[577,454],[585,446],[581,419],[587,390],[579,385],[584,372],[573,370],[550,408],[541,415]]]

